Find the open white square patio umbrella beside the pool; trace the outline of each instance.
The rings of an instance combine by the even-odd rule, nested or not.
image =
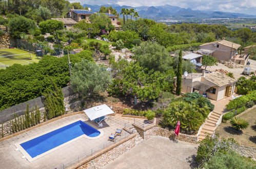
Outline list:
[[[84,110],[84,112],[90,120],[114,113],[106,104],[97,105],[93,108]]]

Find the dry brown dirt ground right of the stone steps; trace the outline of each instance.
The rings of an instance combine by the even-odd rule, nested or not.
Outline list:
[[[227,122],[221,123],[215,132],[220,134],[222,138],[233,138],[239,144],[256,147],[256,109],[242,113],[237,117],[249,122],[250,125],[247,129],[243,131],[236,131],[232,128],[230,122]]]

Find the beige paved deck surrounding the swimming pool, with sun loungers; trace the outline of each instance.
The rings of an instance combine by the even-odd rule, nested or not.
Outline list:
[[[133,118],[121,117],[118,114],[116,116],[108,117],[107,122],[103,123],[103,128],[98,128],[96,123],[89,121],[85,114],[73,115],[2,141],[0,142],[0,166],[1,168],[61,168],[63,164],[66,165],[67,163],[72,162],[72,160],[74,162],[78,156],[85,156],[86,153],[90,153],[92,149],[93,153],[104,149],[104,146],[110,143],[110,141],[108,141],[108,136],[111,133],[114,133],[117,128],[124,128],[125,123],[132,124],[133,122]],[[23,159],[23,154],[20,151],[15,151],[15,143],[33,138],[42,133],[51,131],[54,128],[58,128],[58,126],[79,119],[83,119],[84,122],[97,130],[103,130],[104,135],[93,140],[87,139],[86,137],[76,139],[75,141],[31,162],[26,158]],[[125,132],[123,134],[128,135],[128,133]],[[117,141],[119,137],[120,136],[116,137]]]

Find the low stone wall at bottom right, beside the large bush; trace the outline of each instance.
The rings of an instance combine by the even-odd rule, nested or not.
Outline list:
[[[241,156],[251,157],[254,161],[256,161],[256,148],[249,147],[245,145],[233,144],[231,149],[238,152]]]

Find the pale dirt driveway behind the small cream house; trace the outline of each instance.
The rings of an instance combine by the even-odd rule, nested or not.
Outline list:
[[[256,60],[249,59],[249,61],[251,63],[249,66],[251,68],[251,72],[256,71]],[[224,64],[220,64],[220,63],[218,63],[218,66],[212,66],[212,67],[206,68],[207,71],[215,71],[216,69],[223,69],[223,70],[227,70],[228,72],[232,72],[234,74],[234,78],[236,78],[236,79],[238,79],[241,76],[244,76],[242,74],[242,72],[244,71],[244,68],[231,69],[231,68],[226,67]]]

